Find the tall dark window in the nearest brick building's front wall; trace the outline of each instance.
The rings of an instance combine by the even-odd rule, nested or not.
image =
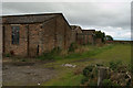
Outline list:
[[[19,26],[12,26],[12,44],[19,44]]]

